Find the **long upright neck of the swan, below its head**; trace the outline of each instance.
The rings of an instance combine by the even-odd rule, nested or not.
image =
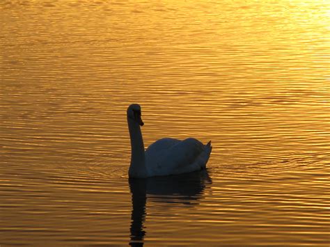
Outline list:
[[[139,124],[130,119],[127,119],[127,122],[132,150],[129,177],[148,177],[141,128]]]

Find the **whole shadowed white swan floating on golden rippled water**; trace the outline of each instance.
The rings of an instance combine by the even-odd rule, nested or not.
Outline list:
[[[175,175],[203,170],[212,151],[211,141],[206,145],[195,138],[183,141],[162,138],[144,149],[141,126],[141,106],[127,108],[127,123],[131,140],[129,177],[146,178]]]

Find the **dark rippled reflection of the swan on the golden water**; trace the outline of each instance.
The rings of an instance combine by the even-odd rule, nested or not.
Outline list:
[[[207,184],[212,180],[207,170],[166,177],[146,179],[129,178],[132,193],[132,223],[130,227],[131,246],[143,246],[146,235],[143,223],[146,220],[146,202],[152,200],[164,203],[167,207],[194,207],[203,198]],[[171,204],[171,205],[168,205]]]

